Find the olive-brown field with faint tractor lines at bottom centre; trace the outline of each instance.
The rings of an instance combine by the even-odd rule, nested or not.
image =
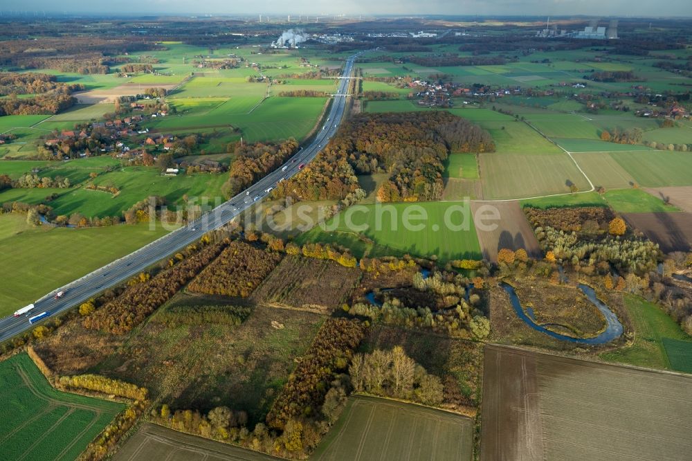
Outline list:
[[[470,461],[473,425],[424,406],[352,397],[311,460]]]

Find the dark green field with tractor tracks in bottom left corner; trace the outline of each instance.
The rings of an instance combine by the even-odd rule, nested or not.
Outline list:
[[[59,392],[27,354],[0,362],[3,460],[74,460],[125,405]],[[9,417],[11,415],[11,417]]]

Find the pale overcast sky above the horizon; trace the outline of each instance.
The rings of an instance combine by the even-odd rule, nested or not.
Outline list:
[[[203,8],[203,9],[200,9]],[[692,17],[692,0],[0,0],[1,11]]]

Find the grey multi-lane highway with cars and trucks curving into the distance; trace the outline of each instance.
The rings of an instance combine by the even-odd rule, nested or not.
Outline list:
[[[347,103],[349,78],[352,76],[354,60],[358,54],[349,57],[346,61],[331,109],[329,109],[327,118],[323,121],[324,125],[320,126],[318,134],[310,145],[305,146],[298,153],[294,154],[282,167],[277,168],[277,170],[257,181],[247,190],[224,202],[224,204],[190,222],[187,226],[174,230],[147,246],[143,246],[143,248],[134,253],[130,253],[85,275],[79,280],[67,284],[65,287],[53,291],[53,293],[64,291],[62,298],[55,299],[53,293],[49,293],[37,300],[34,303],[34,309],[28,314],[1,319],[0,341],[4,341],[33,327],[28,322],[30,316],[41,314],[44,311],[48,311],[51,316],[55,316],[55,314],[65,309],[69,309],[96,296],[104,289],[131,278],[151,264],[163,260],[163,258],[180,248],[184,248],[192,242],[199,240],[204,233],[223,226],[246,209],[251,208],[256,202],[264,199],[269,194],[269,189],[275,187],[282,178],[289,178],[298,173],[300,165],[307,165],[322,150],[322,147],[325,147],[329,139],[336,133],[341,120],[343,120]],[[22,306],[17,306],[17,309],[20,307]],[[51,318],[51,316],[48,318]]]

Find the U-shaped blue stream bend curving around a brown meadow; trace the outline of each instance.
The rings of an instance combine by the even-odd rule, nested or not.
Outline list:
[[[592,302],[594,306],[596,306],[601,313],[603,313],[603,316],[605,316],[605,330],[599,334],[599,336],[594,336],[593,338],[574,338],[574,336],[568,336],[566,334],[559,334],[556,332],[553,332],[549,329],[547,329],[544,325],[538,325],[536,323],[536,317],[534,316],[534,311],[533,309],[527,308],[526,310],[529,312],[527,315],[527,312],[525,309],[522,307],[521,302],[519,301],[519,297],[517,296],[516,291],[514,291],[514,288],[506,283],[502,282],[500,283],[502,288],[504,288],[504,291],[507,291],[509,294],[509,299],[511,300],[512,307],[514,308],[514,311],[516,312],[517,316],[521,318],[524,323],[529,325],[529,327],[535,329],[537,332],[545,333],[548,336],[551,336],[552,338],[559,339],[561,341],[569,341],[570,343],[579,343],[579,344],[603,344],[603,343],[608,343],[615,338],[619,338],[623,332],[623,327],[622,324],[620,323],[620,320],[617,319],[617,316],[614,314],[613,311],[608,309],[608,306],[603,304],[599,298],[596,296],[596,292],[594,289],[589,287],[588,285],[585,284],[579,284],[579,289],[584,293],[584,295]]]

